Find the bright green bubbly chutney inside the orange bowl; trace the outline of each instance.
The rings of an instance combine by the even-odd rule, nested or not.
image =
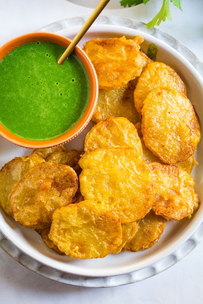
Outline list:
[[[0,123],[27,140],[58,137],[81,119],[89,101],[89,79],[81,61],[49,42],[17,47],[0,62]]]

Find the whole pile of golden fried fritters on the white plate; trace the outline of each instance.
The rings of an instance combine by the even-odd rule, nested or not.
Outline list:
[[[182,79],[142,53],[142,41],[85,43],[100,88],[85,152],[34,150],[0,171],[2,208],[59,254],[90,259],[147,249],[167,220],[198,209],[190,175],[198,116]]]

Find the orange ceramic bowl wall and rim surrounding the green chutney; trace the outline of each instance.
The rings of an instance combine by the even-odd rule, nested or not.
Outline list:
[[[9,42],[5,43],[0,48],[0,61],[5,57],[6,54],[11,52],[16,47],[19,47],[25,43],[30,43],[34,41],[46,41],[46,42],[52,42],[57,43],[65,48],[68,47],[68,45],[71,43],[71,40],[64,36],[60,36],[54,33],[47,33],[47,32],[33,32],[28,33],[22,36],[18,36]],[[96,108],[97,98],[98,98],[98,82],[96,78],[96,72],[94,70],[94,67],[87,57],[87,55],[83,52],[83,50],[76,46],[75,50],[73,51],[74,54],[79,58],[79,60],[82,62],[83,66],[86,69],[88,78],[89,78],[89,85],[90,85],[90,95],[89,95],[89,102],[87,105],[87,108],[82,116],[82,118],[79,120],[75,126],[69,130],[68,132],[64,133],[63,135],[60,135],[56,138],[53,138],[51,140],[41,140],[41,141],[35,141],[35,140],[27,140],[23,139],[21,137],[18,137],[11,132],[9,132],[7,129],[5,129],[4,126],[0,124],[0,135],[4,137],[5,139],[9,140],[10,142],[21,146],[25,148],[47,148],[47,147],[53,147],[57,146],[62,143],[66,143],[75,136],[77,136],[89,123],[93,112]],[[15,117],[14,117],[15,119]]]

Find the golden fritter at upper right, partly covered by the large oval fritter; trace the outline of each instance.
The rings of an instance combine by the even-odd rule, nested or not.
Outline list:
[[[159,87],[173,88],[183,95],[187,95],[184,82],[172,67],[163,62],[149,62],[139,76],[134,91],[135,108],[141,117],[145,98],[149,92]]]

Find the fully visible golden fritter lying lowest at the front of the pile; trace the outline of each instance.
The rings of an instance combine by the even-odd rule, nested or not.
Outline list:
[[[70,257],[105,257],[122,240],[119,218],[106,206],[90,201],[54,211],[49,238]]]

